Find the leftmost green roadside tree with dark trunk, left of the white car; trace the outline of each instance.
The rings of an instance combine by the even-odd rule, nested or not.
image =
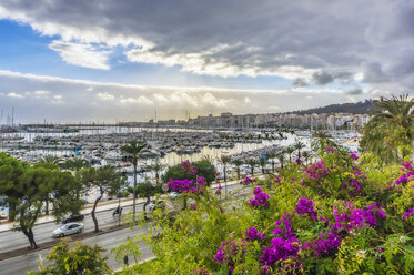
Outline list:
[[[75,195],[81,186],[71,173],[61,172],[54,166],[28,166],[9,156],[2,156],[4,157],[3,165],[1,165],[3,181],[0,192],[6,196],[2,203],[13,205],[13,212],[17,214],[14,230],[21,231],[28,237],[30,247],[36,248],[32,230],[42,213],[43,205],[48,202],[52,203],[52,214],[59,222],[65,213],[78,212],[81,208],[83,203]],[[2,169],[8,167],[7,163],[16,166],[6,172]],[[12,185],[7,185],[7,183],[12,183]]]

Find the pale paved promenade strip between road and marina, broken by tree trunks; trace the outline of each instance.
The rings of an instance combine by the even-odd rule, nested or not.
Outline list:
[[[254,177],[263,180],[264,176],[265,175],[263,175],[263,174],[258,174]],[[228,182],[228,186],[238,184],[240,181],[241,180],[230,181],[230,182]],[[221,185],[224,189],[224,185],[225,185],[224,181],[221,181],[220,183],[213,182],[210,185],[210,187],[211,189],[216,189],[219,185]],[[145,201],[147,201],[147,198],[138,197],[137,198],[137,204],[144,203]],[[133,203],[132,197],[121,198],[121,207],[131,206],[132,203]],[[118,200],[111,200],[111,201],[102,202],[102,203],[98,204],[95,213],[104,212],[104,211],[112,211],[112,210],[115,210],[117,206],[118,206]],[[89,215],[92,212],[92,207],[93,207],[93,204],[88,204],[85,206],[85,208],[81,211],[81,213],[83,215]],[[38,221],[36,221],[36,224],[38,225],[38,224],[52,223],[52,222],[54,222],[54,217],[52,215],[48,215],[48,216],[39,217]],[[11,230],[13,230],[13,226],[14,226],[14,222],[2,222],[2,223],[0,223],[0,233],[6,232],[6,231],[11,231]]]

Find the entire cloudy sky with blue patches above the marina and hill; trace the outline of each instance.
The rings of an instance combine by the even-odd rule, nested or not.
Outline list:
[[[411,0],[8,0],[0,109],[19,122],[274,113],[414,88]]]

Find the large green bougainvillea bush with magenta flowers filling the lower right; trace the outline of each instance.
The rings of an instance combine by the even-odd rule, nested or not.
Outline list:
[[[327,146],[309,165],[236,184],[228,201],[176,183],[196,206],[155,218],[144,238],[156,258],[123,273],[413,274],[414,164],[359,161]]]

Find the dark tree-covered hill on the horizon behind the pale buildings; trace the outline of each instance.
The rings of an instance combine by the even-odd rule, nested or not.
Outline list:
[[[368,114],[374,109],[374,103],[378,101],[376,100],[366,100],[365,102],[357,102],[357,103],[344,103],[344,104],[332,104],[327,106],[320,106],[309,110],[300,110],[289,113],[294,114],[321,114],[321,113],[353,113],[353,114]]]

